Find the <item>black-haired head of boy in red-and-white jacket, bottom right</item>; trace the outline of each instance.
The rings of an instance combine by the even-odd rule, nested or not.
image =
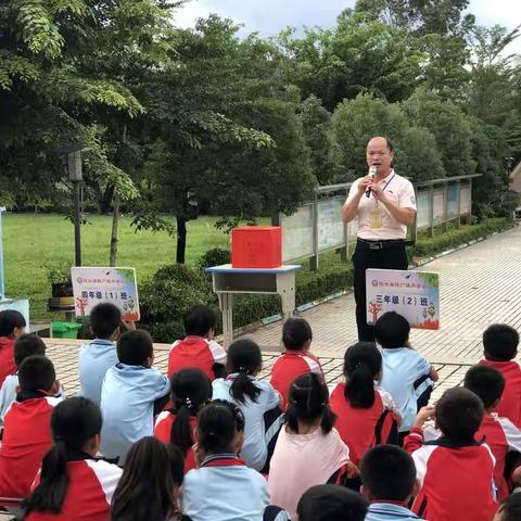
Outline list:
[[[436,427],[445,437],[456,443],[470,443],[481,425],[483,402],[465,387],[448,389],[435,408]]]

